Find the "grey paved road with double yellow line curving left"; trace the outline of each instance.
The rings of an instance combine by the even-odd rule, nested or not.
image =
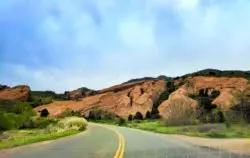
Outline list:
[[[56,141],[1,151],[1,158],[247,158],[202,148],[171,136],[126,127],[90,124]]]

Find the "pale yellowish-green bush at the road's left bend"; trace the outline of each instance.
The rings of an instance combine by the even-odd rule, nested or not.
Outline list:
[[[84,118],[80,117],[66,117],[60,120],[55,125],[49,125],[45,132],[52,133],[52,132],[61,132],[67,130],[79,130],[83,131],[86,129],[88,122]]]

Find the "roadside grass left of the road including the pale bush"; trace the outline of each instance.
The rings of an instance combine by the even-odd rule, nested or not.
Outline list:
[[[0,149],[11,148],[45,140],[53,140],[77,134],[86,129],[87,121],[79,117],[66,117],[56,124],[49,124],[41,129],[23,129],[5,131],[0,138]]]

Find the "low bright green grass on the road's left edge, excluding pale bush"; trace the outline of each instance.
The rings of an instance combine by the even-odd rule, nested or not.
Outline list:
[[[36,143],[45,140],[53,140],[60,137],[65,137],[73,134],[77,134],[80,131],[68,130],[58,133],[44,133],[43,130],[10,130],[6,131],[6,135],[10,135],[10,138],[6,140],[0,140],[0,149],[12,148],[16,146]]]

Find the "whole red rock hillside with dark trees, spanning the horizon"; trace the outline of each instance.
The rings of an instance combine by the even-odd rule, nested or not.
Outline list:
[[[122,117],[135,115],[136,112],[145,117],[147,112],[157,115],[158,111],[161,116],[165,116],[168,115],[168,106],[176,103],[195,108],[202,102],[205,106],[230,109],[240,103],[239,96],[249,89],[249,78],[249,71],[206,69],[175,78],[159,76],[132,79],[99,91],[83,87],[64,94],[52,91],[28,93],[27,88],[28,91],[21,93],[23,90],[19,86],[2,86],[0,98],[31,101],[36,111],[46,108],[53,116],[71,109],[88,117],[94,108]],[[33,100],[28,99],[28,94]]]

